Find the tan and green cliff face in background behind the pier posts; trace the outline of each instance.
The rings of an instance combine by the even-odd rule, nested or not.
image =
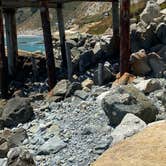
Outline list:
[[[162,0],[159,0],[160,2]],[[131,1],[131,17],[137,19],[143,11],[147,0]],[[165,3],[164,1],[161,3]],[[104,2],[72,2],[64,5],[64,20],[66,28],[74,24],[83,32],[101,34],[111,28],[111,3]],[[56,10],[50,9],[52,30],[57,30]],[[19,31],[41,29],[40,13],[38,9],[19,9],[17,11]]]

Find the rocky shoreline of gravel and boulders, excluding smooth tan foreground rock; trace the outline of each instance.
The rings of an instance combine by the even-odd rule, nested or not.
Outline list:
[[[71,82],[59,69],[55,38],[58,79],[49,93],[45,57],[20,51],[11,99],[0,100],[0,165],[88,166],[108,148],[166,120],[165,21],[154,1],[147,4],[140,22],[131,25],[131,74],[122,77],[111,35],[78,33],[67,40]]]

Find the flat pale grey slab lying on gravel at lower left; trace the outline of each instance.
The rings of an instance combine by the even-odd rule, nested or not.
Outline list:
[[[48,155],[50,153],[57,153],[65,147],[66,144],[58,136],[54,136],[40,146],[38,154]]]

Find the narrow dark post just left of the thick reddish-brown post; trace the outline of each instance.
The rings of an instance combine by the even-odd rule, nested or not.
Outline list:
[[[118,60],[120,54],[119,19],[119,0],[114,0],[112,1],[113,56]]]

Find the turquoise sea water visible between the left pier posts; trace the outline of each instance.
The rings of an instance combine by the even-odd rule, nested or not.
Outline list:
[[[45,52],[44,48],[44,39],[43,36],[27,36],[27,35],[19,35],[17,36],[18,49],[35,52],[40,51],[42,53]]]

